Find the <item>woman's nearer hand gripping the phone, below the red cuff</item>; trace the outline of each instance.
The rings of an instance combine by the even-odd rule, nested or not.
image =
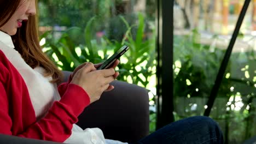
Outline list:
[[[71,83],[82,87],[90,97],[90,103],[100,99],[101,94],[109,87],[109,83],[114,81],[115,70],[113,68],[96,70],[94,64],[85,63],[80,68]]]

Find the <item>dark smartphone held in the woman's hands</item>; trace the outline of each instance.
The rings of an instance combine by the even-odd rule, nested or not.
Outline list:
[[[97,70],[100,69],[108,69],[118,58],[120,58],[124,53],[129,50],[129,47],[124,45],[117,52],[114,53],[111,57],[109,57]]]

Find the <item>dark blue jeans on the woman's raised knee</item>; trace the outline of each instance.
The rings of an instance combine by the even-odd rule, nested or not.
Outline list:
[[[223,135],[213,119],[195,116],[168,124],[136,143],[223,143]]]

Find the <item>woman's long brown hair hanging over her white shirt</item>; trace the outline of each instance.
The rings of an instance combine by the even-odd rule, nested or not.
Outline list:
[[[19,6],[21,0],[0,0],[0,27],[8,22]],[[36,2],[36,8],[37,8]],[[38,11],[38,10],[37,10]],[[37,66],[45,69],[44,76],[52,76],[51,82],[59,83],[62,80],[62,73],[56,65],[43,53],[39,45],[38,15],[28,17],[27,22],[22,22],[15,35],[11,36],[15,49],[20,53],[25,62],[31,68]]]

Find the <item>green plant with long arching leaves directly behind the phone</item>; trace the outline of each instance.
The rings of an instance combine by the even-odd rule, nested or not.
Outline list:
[[[79,64],[84,62],[100,63],[109,57],[122,45],[127,45],[130,50],[121,57],[119,65],[119,80],[136,83],[147,87],[149,77],[155,74],[153,70],[155,60],[155,40],[154,37],[144,38],[144,17],[138,15],[138,24],[130,26],[124,17],[120,19],[125,23],[127,31],[124,38],[119,42],[101,38],[100,42],[94,39],[92,31],[95,17],[92,17],[86,25],[84,31],[78,27],[67,29],[61,34],[58,40],[53,40],[50,32],[42,35],[41,39],[46,39],[43,47],[48,47],[45,53],[50,56],[56,64],[63,70],[74,70]],[[136,37],[133,38],[131,30],[136,29]],[[85,44],[80,43],[84,38]],[[100,55],[102,54],[102,55]],[[56,55],[56,57],[52,57]]]

